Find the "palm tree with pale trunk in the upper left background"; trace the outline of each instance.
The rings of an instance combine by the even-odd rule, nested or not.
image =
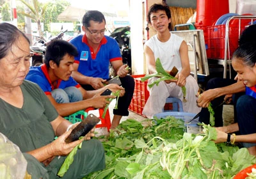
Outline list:
[[[41,22],[44,21],[44,16],[45,16],[45,10],[47,8],[48,3],[40,3],[38,0],[32,0],[32,4],[27,3],[25,0],[19,0],[23,4],[25,4],[29,10],[30,13],[26,13],[24,11],[22,12],[17,12],[20,13],[26,17],[29,17],[31,20],[35,21],[37,24],[37,31],[38,35],[43,38],[43,33],[41,29]]]

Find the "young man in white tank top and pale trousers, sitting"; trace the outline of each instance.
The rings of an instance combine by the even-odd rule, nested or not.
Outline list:
[[[156,35],[152,36],[144,46],[145,57],[149,74],[156,72],[156,59],[159,58],[166,72],[170,72],[173,66],[179,70],[175,77],[177,80],[162,81],[158,86],[148,88],[150,97],[143,109],[143,114],[147,118],[152,118],[154,114],[163,112],[166,98],[175,97],[182,101],[184,112],[199,113],[200,107],[196,105],[196,94],[198,84],[190,75],[188,45],[180,36],[170,33],[169,26],[171,13],[168,6],[154,4],[148,11],[148,23],[156,30]],[[148,84],[156,81],[156,77],[148,80]],[[183,100],[181,87],[186,87],[186,102]]]

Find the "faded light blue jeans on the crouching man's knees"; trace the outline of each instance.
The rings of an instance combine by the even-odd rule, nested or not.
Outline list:
[[[69,103],[83,100],[81,91],[79,91],[75,86],[70,86],[65,89],[53,89],[51,94],[58,103]]]

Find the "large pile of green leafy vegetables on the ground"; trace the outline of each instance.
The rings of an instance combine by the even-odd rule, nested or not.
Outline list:
[[[144,121],[145,122],[145,121]],[[256,163],[246,148],[215,144],[216,129],[184,132],[184,121],[172,116],[122,122],[100,140],[106,152],[106,169],[86,178],[232,178]]]

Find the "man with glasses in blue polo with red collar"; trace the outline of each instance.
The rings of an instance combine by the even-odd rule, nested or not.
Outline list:
[[[120,77],[125,95],[118,99],[118,109],[113,111],[111,128],[115,128],[122,116],[128,116],[128,107],[134,92],[134,79],[127,75],[127,65],[123,65],[118,43],[115,39],[105,36],[106,20],[104,15],[96,10],[88,11],[83,17],[84,35],[70,40],[78,51],[75,57],[75,71],[72,77],[86,90],[103,88],[109,79],[109,65],[113,66],[115,74]]]

